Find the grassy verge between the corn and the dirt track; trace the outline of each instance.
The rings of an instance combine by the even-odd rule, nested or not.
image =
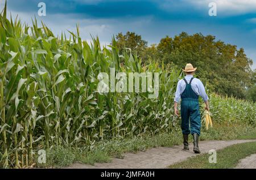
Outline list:
[[[189,137],[192,142],[192,136]],[[244,126],[218,126],[208,131],[202,129],[200,140],[255,139],[256,128]],[[88,147],[52,147],[47,150],[46,164],[37,164],[40,168],[60,168],[75,162],[94,164],[110,162],[113,157],[122,158],[123,153],[146,151],[154,147],[172,147],[183,141],[181,130],[163,132],[158,135],[144,134],[134,138],[114,138],[101,140]]]

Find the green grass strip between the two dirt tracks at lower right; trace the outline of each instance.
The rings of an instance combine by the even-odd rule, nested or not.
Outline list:
[[[184,169],[227,169],[235,168],[242,158],[256,153],[256,142],[231,145],[217,151],[217,163],[209,163],[208,153],[189,157],[187,160],[170,165],[169,168]]]

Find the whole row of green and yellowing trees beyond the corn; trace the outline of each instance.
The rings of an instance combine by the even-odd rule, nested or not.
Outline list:
[[[201,33],[188,35],[181,32],[174,37],[166,36],[158,44],[150,46],[135,32],[118,33],[115,37],[121,53],[131,50],[143,63],[160,61],[178,68],[192,63],[197,67],[197,77],[207,84],[210,91],[256,100],[256,70],[251,68],[253,61],[243,48]]]

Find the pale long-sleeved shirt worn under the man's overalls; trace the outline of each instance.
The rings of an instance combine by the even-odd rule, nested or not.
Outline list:
[[[193,75],[186,75],[185,79],[189,83],[192,77],[193,77]],[[180,101],[181,94],[184,92],[185,88],[186,88],[185,81],[183,79],[179,80],[179,82],[177,84],[175,98],[174,98],[175,102]],[[193,78],[193,80],[191,82],[191,88],[192,88],[193,92],[195,92],[196,95],[201,96],[204,101],[209,100],[207,93],[205,92],[204,84],[201,82],[201,80],[199,80],[197,78]]]

